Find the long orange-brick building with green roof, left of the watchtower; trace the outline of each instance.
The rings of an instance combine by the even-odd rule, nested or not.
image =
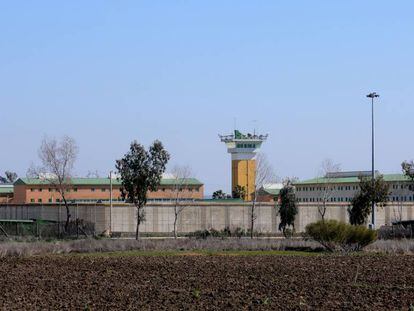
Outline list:
[[[101,203],[110,200],[109,178],[72,178],[65,198],[69,202]],[[123,202],[121,181],[112,179],[112,200]],[[201,200],[204,198],[204,185],[195,178],[185,180],[165,179],[157,191],[148,193],[149,201],[170,201],[175,197],[180,200]],[[60,203],[62,197],[56,187],[46,179],[19,178],[14,183],[13,203]]]

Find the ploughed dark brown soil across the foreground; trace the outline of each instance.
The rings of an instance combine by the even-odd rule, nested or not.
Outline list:
[[[408,310],[414,256],[45,256],[0,260],[0,309]]]

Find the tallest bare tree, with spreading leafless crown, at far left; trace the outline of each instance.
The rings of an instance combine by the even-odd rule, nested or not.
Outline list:
[[[78,147],[75,140],[68,136],[64,136],[60,141],[45,137],[38,153],[41,165],[32,166],[28,175],[48,182],[60,194],[66,208],[65,231],[67,231],[71,215],[66,194],[72,187],[71,178]]]

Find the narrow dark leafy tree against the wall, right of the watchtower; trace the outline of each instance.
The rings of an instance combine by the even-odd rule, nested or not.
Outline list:
[[[280,190],[279,198],[279,230],[282,231],[283,235],[286,237],[286,229],[288,227],[292,227],[293,230],[295,229],[295,218],[298,213],[298,208],[296,206],[295,187],[292,185],[292,182],[289,179],[285,181],[285,185]]]

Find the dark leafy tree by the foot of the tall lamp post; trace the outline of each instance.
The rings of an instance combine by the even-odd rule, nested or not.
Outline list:
[[[375,177],[374,187],[369,177],[359,178],[359,191],[351,200],[348,207],[349,222],[352,225],[363,225],[371,213],[371,202],[376,205],[385,205],[388,201],[389,185],[382,175]]]

